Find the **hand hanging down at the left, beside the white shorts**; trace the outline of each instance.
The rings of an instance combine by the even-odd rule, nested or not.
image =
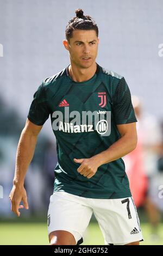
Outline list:
[[[28,209],[28,202],[27,202],[27,193],[24,186],[17,186],[14,185],[10,192],[9,199],[11,200],[11,211],[20,216],[20,211],[18,209]],[[23,201],[24,205],[20,205],[20,202]]]

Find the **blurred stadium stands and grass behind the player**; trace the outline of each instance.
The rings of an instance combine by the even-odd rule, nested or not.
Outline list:
[[[48,244],[46,213],[53,191],[53,168],[57,163],[50,120],[43,127],[30,164],[26,189],[29,210],[20,218],[10,211],[8,199],[15,168],[15,155],[33,94],[42,79],[68,65],[62,46],[65,26],[82,8],[99,27],[97,63],[123,75],[131,94],[141,98],[149,147],[157,148],[145,168],[152,207],[138,209],[145,241],[163,244],[162,161],[162,68],[163,44],[161,0],[0,0],[0,245]],[[2,50],[2,47],[1,47]],[[163,54],[162,54],[163,55]],[[147,114],[146,114],[147,117]],[[152,125],[152,129],[150,128]],[[151,139],[153,138],[153,139]],[[149,141],[148,141],[149,139]],[[148,148],[149,148],[148,147]],[[159,149],[158,149],[159,148]],[[151,167],[151,161],[155,167]],[[145,210],[146,209],[146,210]],[[92,217],[85,245],[103,245]]]

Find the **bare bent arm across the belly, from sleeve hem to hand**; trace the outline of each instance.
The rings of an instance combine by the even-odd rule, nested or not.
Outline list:
[[[136,123],[120,124],[117,125],[117,129],[120,132],[121,138],[108,149],[89,159],[74,159],[74,162],[81,163],[77,169],[81,175],[90,179],[95,175],[99,166],[120,159],[136,148]]]

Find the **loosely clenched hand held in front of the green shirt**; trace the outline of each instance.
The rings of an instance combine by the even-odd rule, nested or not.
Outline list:
[[[74,158],[73,161],[76,163],[81,163],[77,171],[87,179],[92,178],[92,176],[97,172],[97,168],[101,165],[96,157],[91,157],[89,159]]]

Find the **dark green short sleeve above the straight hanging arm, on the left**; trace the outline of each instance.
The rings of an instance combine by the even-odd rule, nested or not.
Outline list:
[[[30,105],[28,119],[36,125],[43,125],[50,114],[44,83],[39,86]]]

